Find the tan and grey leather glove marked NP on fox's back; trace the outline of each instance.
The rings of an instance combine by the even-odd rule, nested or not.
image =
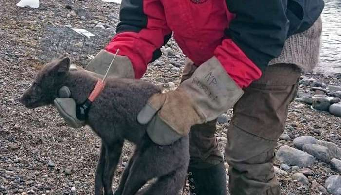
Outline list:
[[[137,116],[148,124],[153,142],[169,145],[189,133],[190,127],[216,119],[231,108],[243,90],[229,77],[216,57],[170,92],[155,94]]]

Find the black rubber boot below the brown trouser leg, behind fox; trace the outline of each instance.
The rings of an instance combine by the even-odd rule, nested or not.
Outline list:
[[[188,168],[190,195],[226,195],[224,162],[206,169]]]

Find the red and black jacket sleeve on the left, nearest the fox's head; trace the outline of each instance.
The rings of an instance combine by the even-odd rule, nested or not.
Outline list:
[[[141,78],[147,64],[161,56],[160,47],[171,37],[160,0],[122,0],[117,34],[105,47],[127,56]]]

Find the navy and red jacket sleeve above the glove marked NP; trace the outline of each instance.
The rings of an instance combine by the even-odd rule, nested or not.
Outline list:
[[[226,32],[228,39],[214,55],[241,87],[262,75],[269,61],[280,55],[288,36],[287,3],[283,0],[226,0],[235,15]]]

